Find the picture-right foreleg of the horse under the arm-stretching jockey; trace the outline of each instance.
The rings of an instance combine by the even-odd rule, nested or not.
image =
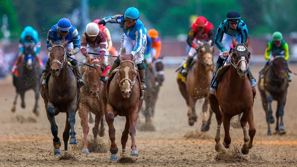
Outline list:
[[[138,152],[136,150],[136,142],[135,142],[135,135],[136,135],[136,130],[135,130],[135,126],[136,126],[136,121],[137,121],[137,117],[138,117],[138,108],[135,107],[131,112],[128,113],[128,117],[129,117],[129,134],[131,136],[131,153],[130,155],[138,155]]]

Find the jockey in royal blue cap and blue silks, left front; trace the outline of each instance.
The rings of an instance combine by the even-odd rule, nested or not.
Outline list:
[[[80,34],[78,33],[77,29],[74,25],[70,23],[70,20],[66,18],[62,18],[58,21],[58,24],[55,24],[48,32],[47,39],[46,39],[46,46],[47,50],[52,50],[52,47],[49,44],[49,41],[52,41],[54,44],[60,45],[65,41],[68,41],[68,44],[65,46],[67,57],[75,58],[74,55],[80,51]],[[78,77],[77,82],[83,86],[84,80],[81,77],[80,68],[76,61],[68,58],[68,62],[74,66],[75,73]],[[48,58],[45,64],[45,69],[49,68],[50,59]],[[46,85],[46,77],[48,71],[44,73],[42,85]]]

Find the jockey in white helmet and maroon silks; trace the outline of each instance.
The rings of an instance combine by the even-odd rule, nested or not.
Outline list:
[[[95,52],[100,54],[105,54],[106,50],[106,37],[103,31],[99,30],[99,27],[96,23],[89,23],[86,26],[86,32],[84,32],[81,38],[81,53],[84,55],[84,63],[88,64],[88,62],[94,58],[93,54],[88,54],[88,52]],[[107,56],[99,56],[101,57],[100,62],[101,66],[108,66],[108,58]],[[85,66],[80,68],[81,73],[83,74],[85,71]]]

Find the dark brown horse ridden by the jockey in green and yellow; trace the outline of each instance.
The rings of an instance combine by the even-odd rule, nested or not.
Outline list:
[[[261,82],[259,78],[258,88],[262,98],[263,109],[266,113],[266,121],[268,125],[267,135],[271,135],[270,124],[274,123],[272,116],[271,103],[273,100],[278,101],[276,110],[276,133],[283,135],[286,133],[284,128],[283,116],[286,104],[287,89],[289,83],[286,77],[286,60],[282,55],[275,56],[273,62],[266,68],[267,71],[264,75],[264,80]],[[269,105],[269,107],[268,107]],[[279,124],[279,116],[281,121]]]

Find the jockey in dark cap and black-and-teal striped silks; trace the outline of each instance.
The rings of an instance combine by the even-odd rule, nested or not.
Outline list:
[[[229,56],[230,45],[235,38],[237,43],[245,43],[248,40],[247,25],[241,20],[240,14],[236,10],[230,10],[226,19],[218,26],[215,36],[214,45],[220,50],[219,58],[215,67],[215,77],[217,70],[223,66],[224,60]],[[252,87],[256,86],[256,79],[252,75],[251,67],[248,66],[248,74]],[[212,88],[217,88],[217,80],[212,83]]]

